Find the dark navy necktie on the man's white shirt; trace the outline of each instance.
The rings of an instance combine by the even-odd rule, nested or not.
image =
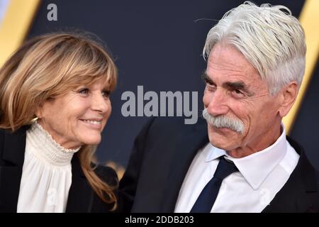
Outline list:
[[[224,157],[220,157],[220,161],[218,162],[213,178],[206,184],[203,191],[201,191],[201,194],[199,194],[198,199],[191,209],[191,213],[211,212],[223,179],[237,171],[238,169],[234,162],[230,162],[225,160]]]

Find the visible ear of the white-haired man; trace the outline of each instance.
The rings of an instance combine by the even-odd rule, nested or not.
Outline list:
[[[279,115],[283,118],[286,116],[293,104],[296,101],[298,94],[298,84],[296,81],[290,82],[283,89],[281,89],[281,106],[279,108]]]

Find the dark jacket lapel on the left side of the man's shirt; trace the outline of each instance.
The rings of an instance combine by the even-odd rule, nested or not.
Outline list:
[[[208,143],[206,122],[193,126],[193,130],[181,133],[177,141],[177,151],[170,167],[170,175],[164,192],[161,212],[173,212],[181,184],[197,151]]]

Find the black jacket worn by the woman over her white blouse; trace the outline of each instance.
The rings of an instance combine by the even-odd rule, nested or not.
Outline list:
[[[16,212],[27,129],[25,126],[15,133],[0,130],[0,212]],[[109,167],[97,167],[96,174],[108,184],[117,184],[116,172]],[[91,189],[74,155],[66,212],[107,212],[111,208],[111,204],[105,204]]]

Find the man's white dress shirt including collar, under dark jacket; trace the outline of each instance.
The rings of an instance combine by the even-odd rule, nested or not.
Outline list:
[[[283,131],[276,142],[252,155],[230,157],[225,150],[208,143],[194,157],[179,191],[175,212],[189,212],[203,187],[211,180],[218,157],[232,160],[239,172],[226,177],[211,212],[261,212],[289,179],[299,155],[286,140]]]

